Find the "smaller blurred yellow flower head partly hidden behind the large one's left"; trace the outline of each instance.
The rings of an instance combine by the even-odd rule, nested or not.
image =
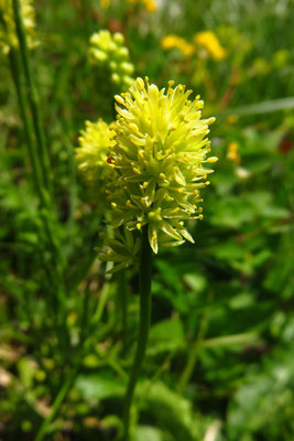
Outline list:
[[[76,161],[79,172],[98,206],[106,202],[106,183],[111,180],[112,170],[107,166],[107,152],[115,144],[111,126],[99,119],[86,121],[86,129],[80,131]]]

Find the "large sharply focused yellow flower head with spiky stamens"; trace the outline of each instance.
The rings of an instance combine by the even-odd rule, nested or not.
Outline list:
[[[200,189],[213,171],[204,164],[210,142],[208,126],[215,118],[200,119],[203,101],[189,100],[192,90],[174,82],[161,90],[137,78],[126,94],[117,95],[115,146],[110,166],[117,176],[108,186],[112,227],[129,230],[148,224],[154,252],[159,246],[194,243],[185,227],[202,219]]]

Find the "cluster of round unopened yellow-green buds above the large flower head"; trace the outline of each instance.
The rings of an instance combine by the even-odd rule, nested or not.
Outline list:
[[[92,64],[104,66],[111,73],[111,82],[121,90],[127,90],[133,83],[133,64],[130,63],[128,47],[120,32],[111,34],[104,30],[90,37],[89,58]]]

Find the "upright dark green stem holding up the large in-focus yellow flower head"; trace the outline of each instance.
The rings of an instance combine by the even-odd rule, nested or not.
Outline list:
[[[123,424],[124,434],[123,441],[130,439],[130,410],[134,388],[140,375],[141,366],[144,359],[148,335],[151,318],[151,266],[152,266],[152,249],[148,238],[148,225],[143,228],[141,265],[140,265],[140,326],[135,356],[132,365],[132,370],[128,384],[128,389],[124,397]]]

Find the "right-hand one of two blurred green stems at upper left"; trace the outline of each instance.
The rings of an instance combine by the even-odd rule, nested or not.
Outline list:
[[[21,52],[21,57],[22,57],[22,63],[23,63],[23,68],[24,68],[24,75],[25,75],[25,79],[26,79],[29,100],[30,100],[30,105],[32,108],[33,123],[34,123],[34,128],[35,128],[37,147],[40,149],[40,158],[42,161],[44,182],[45,182],[48,193],[53,197],[53,189],[52,189],[52,182],[51,182],[51,178],[50,178],[51,176],[50,158],[48,158],[48,153],[47,153],[47,149],[46,149],[46,144],[45,144],[45,136],[44,136],[42,118],[41,118],[39,96],[36,93],[36,87],[35,87],[34,78],[32,75],[31,61],[30,61],[29,50],[28,50],[28,44],[26,44],[26,36],[25,36],[24,28],[23,28],[22,18],[21,18],[20,0],[12,0],[12,4],[13,4],[13,11],[14,11],[15,29],[17,29],[20,52]]]

